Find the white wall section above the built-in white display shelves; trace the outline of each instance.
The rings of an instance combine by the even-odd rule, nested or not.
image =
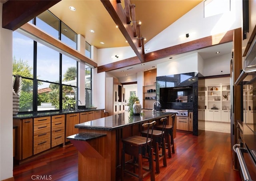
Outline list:
[[[230,74],[231,56],[232,55],[230,53],[204,60],[203,76]]]

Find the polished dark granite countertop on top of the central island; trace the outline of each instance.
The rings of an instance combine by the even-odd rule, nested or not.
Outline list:
[[[152,115],[152,111],[142,110],[142,115],[130,115],[129,112],[124,112],[108,117],[102,117],[85,123],[76,124],[75,128],[79,129],[95,129],[95,130],[115,130],[126,126],[143,123],[144,121],[153,121],[169,115],[176,114],[176,112],[157,112]]]

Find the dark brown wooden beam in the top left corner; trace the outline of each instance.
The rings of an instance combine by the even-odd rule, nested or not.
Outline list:
[[[2,28],[17,30],[60,0],[8,0],[2,8]]]

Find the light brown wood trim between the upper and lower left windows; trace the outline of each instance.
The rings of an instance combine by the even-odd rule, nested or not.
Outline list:
[[[45,32],[38,29],[34,24],[26,23],[23,26],[20,27],[25,32],[29,32],[36,38],[39,38],[46,43],[56,47],[60,50],[60,52],[67,52],[68,54],[74,56],[75,58],[79,59],[82,62],[85,62],[86,64],[89,64],[90,66],[97,67],[98,65],[93,62],[91,59],[87,58],[86,56],[83,56],[78,52],[77,50],[74,50],[73,48],[70,48],[69,46],[66,46],[63,42],[60,40],[57,40],[56,38],[53,38],[52,36],[46,34]]]

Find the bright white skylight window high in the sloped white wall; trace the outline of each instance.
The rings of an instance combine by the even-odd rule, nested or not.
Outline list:
[[[230,0],[205,0],[204,18],[230,11]]]

